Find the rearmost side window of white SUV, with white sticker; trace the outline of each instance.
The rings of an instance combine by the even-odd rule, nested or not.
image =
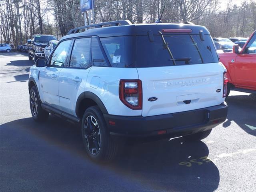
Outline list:
[[[100,38],[112,67],[135,67],[134,36]]]

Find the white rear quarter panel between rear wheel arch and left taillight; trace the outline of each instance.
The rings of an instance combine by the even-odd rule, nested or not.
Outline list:
[[[86,81],[85,91],[90,91],[104,104],[108,114],[140,116],[142,110],[132,110],[119,98],[120,79],[138,79],[136,68],[114,68],[92,66]]]

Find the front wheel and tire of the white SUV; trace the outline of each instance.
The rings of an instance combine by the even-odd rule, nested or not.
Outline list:
[[[38,96],[36,87],[33,86],[29,92],[29,103],[30,103],[30,112],[32,117],[37,122],[44,122],[49,116],[49,113],[45,111],[41,106],[41,101]]]

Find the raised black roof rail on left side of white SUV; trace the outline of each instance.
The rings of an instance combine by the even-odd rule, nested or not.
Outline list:
[[[104,23],[98,23],[98,24],[92,24],[92,25],[86,25],[78,28],[71,29],[67,35],[78,33],[81,29],[88,29],[91,27],[94,28],[101,28],[104,25],[111,25],[111,26],[118,26],[118,25],[131,25],[132,23],[129,20],[120,20],[120,21],[110,21],[110,22],[104,22]]]

